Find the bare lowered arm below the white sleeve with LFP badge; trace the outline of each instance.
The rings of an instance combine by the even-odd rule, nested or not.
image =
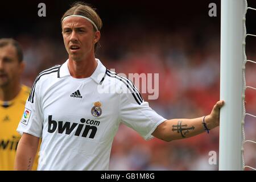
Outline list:
[[[23,133],[16,151],[14,170],[30,171],[34,164],[39,138]]]

